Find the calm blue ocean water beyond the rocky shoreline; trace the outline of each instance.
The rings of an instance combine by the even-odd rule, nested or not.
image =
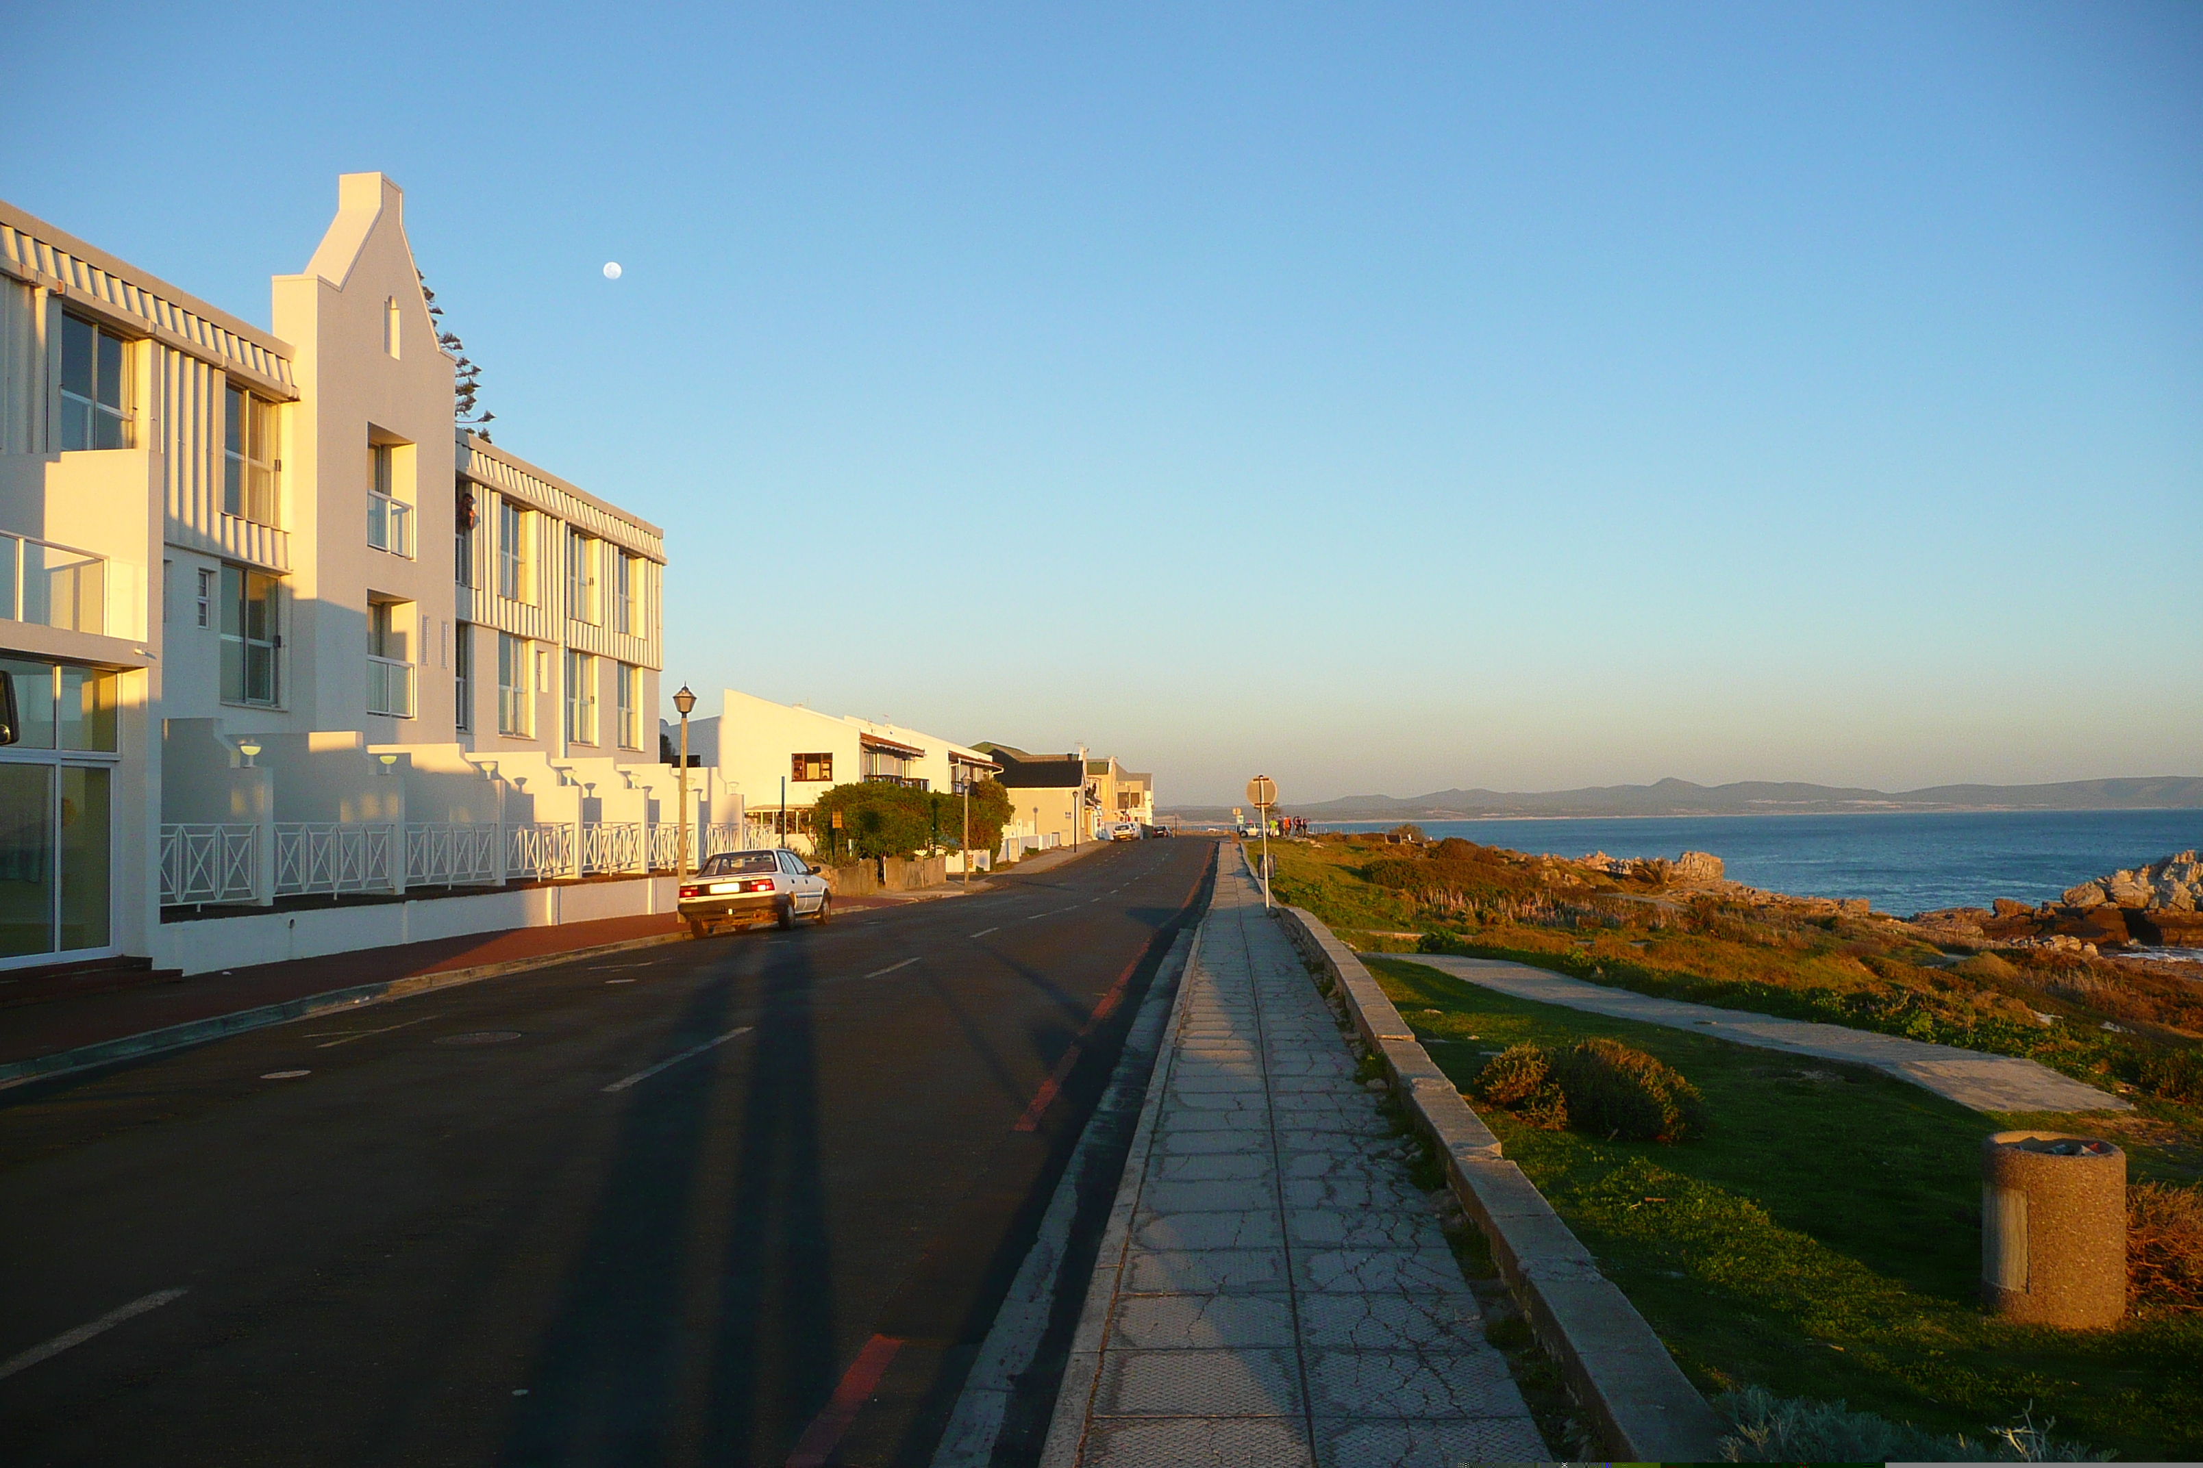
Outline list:
[[[1390,830],[1333,821],[1320,830]],[[1643,817],[1417,821],[1425,834],[1555,856],[1712,852],[1732,880],[1813,898],[1866,898],[1910,916],[2042,902],[2066,887],[2203,847],[2203,810],[1985,810],[1857,817]]]

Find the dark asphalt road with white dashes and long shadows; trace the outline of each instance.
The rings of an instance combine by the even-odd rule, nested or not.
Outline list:
[[[1214,850],[0,1092],[0,1461],[923,1464]]]

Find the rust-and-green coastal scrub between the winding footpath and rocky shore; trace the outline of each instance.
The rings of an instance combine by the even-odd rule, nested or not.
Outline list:
[[[1668,999],[2022,1054],[2203,1144],[2203,984],[2119,957],[1941,942],[1833,902],[1672,887],[1447,839],[1271,845],[1280,900],[1377,951],[1507,957]]]

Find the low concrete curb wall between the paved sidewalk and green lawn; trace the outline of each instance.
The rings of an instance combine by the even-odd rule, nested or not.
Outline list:
[[[1630,1461],[1718,1459],[1721,1417],[1522,1169],[1500,1158],[1498,1138],[1417,1043],[1361,960],[1315,913],[1276,913],[1293,946],[1337,982],[1408,1116],[1436,1142],[1454,1197],[1491,1244],[1507,1288],[1597,1422],[1606,1450]]]

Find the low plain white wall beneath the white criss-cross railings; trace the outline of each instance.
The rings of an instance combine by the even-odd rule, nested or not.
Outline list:
[[[489,891],[474,898],[361,902],[359,907],[315,907],[295,913],[203,918],[198,922],[163,922],[154,933],[152,962],[154,968],[214,973],[249,964],[280,964],[293,957],[388,949],[430,938],[634,918],[670,913],[672,909],[672,876],[637,876],[619,883]]]

